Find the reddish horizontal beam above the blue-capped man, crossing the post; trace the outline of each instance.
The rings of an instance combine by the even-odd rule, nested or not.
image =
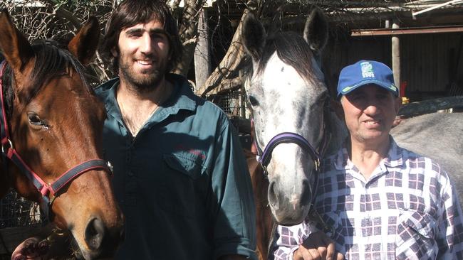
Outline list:
[[[352,30],[350,36],[393,36],[404,34],[422,33],[459,33],[463,32],[463,26],[435,26],[419,28],[380,28],[370,30]]]

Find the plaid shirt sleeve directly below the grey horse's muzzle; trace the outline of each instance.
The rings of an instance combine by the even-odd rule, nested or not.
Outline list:
[[[275,260],[292,260],[294,251],[307,239],[308,235],[318,229],[310,222],[304,220],[301,224],[294,226],[276,227],[274,237],[273,256]]]

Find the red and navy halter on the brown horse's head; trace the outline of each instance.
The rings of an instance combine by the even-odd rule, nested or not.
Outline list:
[[[42,195],[42,200],[40,202],[41,208],[46,216],[50,219],[52,212],[51,206],[53,201],[61,195],[63,188],[66,187],[68,183],[71,183],[79,175],[88,172],[89,170],[105,170],[110,175],[113,174],[112,166],[109,162],[106,162],[101,159],[92,159],[79,163],[77,166],[66,171],[61,176],[59,176],[53,183],[46,183],[42,178],[40,178],[37,173],[35,173],[26,162],[23,161],[19,153],[14,149],[13,142],[11,141],[8,122],[6,121],[6,109],[4,104],[4,94],[3,94],[3,85],[1,77],[4,74],[6,67],[6,62],[0,64],[0,143],[1,143],[1,153],[4,157],[9,158],[19,170],[21,170],[26,177],[31,180],[34,186]],[[4,161],[3,163],[6,163]]]

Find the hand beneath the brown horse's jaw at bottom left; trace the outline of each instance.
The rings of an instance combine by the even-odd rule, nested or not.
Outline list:
[[[48,244],[38,237],[31,237],[14,249],[11,260],[41,260],[48,253]]]

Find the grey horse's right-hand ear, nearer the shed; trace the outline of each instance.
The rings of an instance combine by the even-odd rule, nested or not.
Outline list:
[[[304,40],[311,50],[321,52],[328,42],[328,21],[323,11],[316,7],[308,16],[304,27]]]

